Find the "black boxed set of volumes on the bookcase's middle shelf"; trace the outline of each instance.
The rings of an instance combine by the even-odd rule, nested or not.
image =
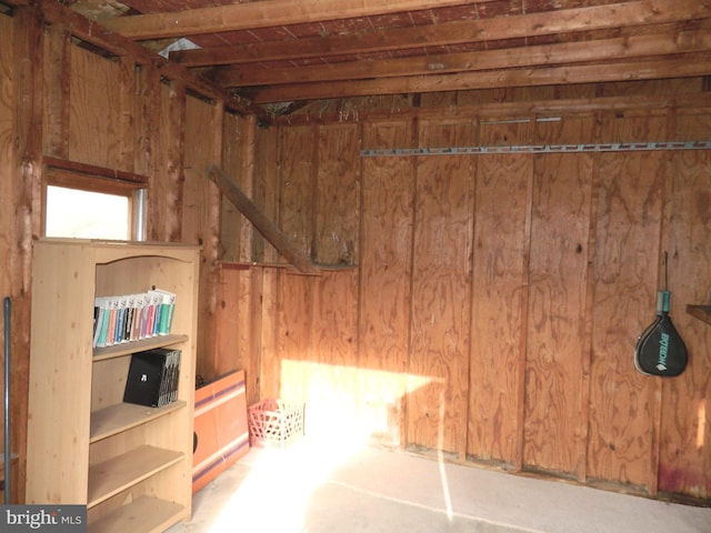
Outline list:
[[[178,399],[181,351],[157,348],[131,354],[123,401],[162,408]]]

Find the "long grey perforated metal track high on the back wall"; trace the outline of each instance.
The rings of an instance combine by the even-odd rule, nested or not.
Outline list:
[[[481,153],[640,152],[653,150],[711,150],[711,141],[608,142],[584,144],[530,144],[513,147],[395,148],[361,150],[361,158],[409,155],[470,155]]]

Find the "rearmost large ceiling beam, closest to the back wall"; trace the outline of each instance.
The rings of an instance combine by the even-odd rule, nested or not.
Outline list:
[[[411,76],[361,81],[296,83],[261,90],[256,103],[322,100],[375,94],[465,91],[473,89],[601,83],[711,76],[711,53],[681,54],[653,61],[622,61],[550,68]]]

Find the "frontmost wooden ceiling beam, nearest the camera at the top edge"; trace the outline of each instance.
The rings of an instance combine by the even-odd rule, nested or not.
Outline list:
[[[99,21],[136,40],[269,28],[484,3],[494,0],[269,0]]]

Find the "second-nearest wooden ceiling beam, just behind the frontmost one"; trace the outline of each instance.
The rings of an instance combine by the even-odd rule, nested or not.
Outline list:
[[[314,37],[233,47],[180,50],[170,60],[184,67],[240,64],[342,54],[367,54],[418,47],[495,41],[555,33],[661,24],[711,17],[711,4],[699,0],[638,0],[553,12],[497,17],[361,34]]]

